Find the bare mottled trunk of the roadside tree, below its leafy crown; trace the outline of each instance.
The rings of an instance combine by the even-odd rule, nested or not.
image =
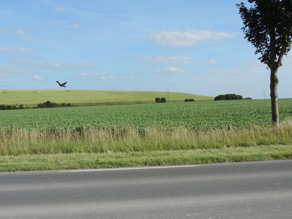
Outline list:
[[[272,102],[272,124],[274,127],[279,127],[279,112],[278,112],[278,84],[279,80],[277,77],[278,68],[271,70],[271,83],[270,83],[270,90],[271,90],[271,102]]]

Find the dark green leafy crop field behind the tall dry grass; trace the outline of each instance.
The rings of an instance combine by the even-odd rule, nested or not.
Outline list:
[[[266,99],[3,110],[0,128],[230,128],[270,123],[270,105]],[[280,121],[291,116],[292,99],[279,99]]]

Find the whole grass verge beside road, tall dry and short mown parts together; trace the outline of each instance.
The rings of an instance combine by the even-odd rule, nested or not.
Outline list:
[[[108,153],[110,151],[111,153]],[[0,171],[109,168],[292,159],[292,121],[191,131],[79,129],[0,132]]]

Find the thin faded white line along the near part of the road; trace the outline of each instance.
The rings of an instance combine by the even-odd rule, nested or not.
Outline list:
[[[289,197],[289,196],[292,196],[292,195],[263,196],[263,197],[250,197],[250,198],[240,198],[240,199],[219,199],[219,200],[209,200],[209,201],[187,201],[187,202],[174,202],[174,203],[162,203],[162,204],[125,205],[125,206],[110,206],[110,207],[95,207],[95,208],[68,208],[68,209],[54,209],[54,210],[41,210],[41,211],[14,211],[14,212],[11,211],[11,212],[0,212],[0,214],[90,210],[90,209],[104,209],[104,208],[126,208],[126,207],[143,207],[143,206],[174,205],[174,204],[192,204],[192,203],[203,203],[203,202],[212,202],[212,201],[237,201],[237,200],[248,200],[248,199],[281,198],[281,197]]]

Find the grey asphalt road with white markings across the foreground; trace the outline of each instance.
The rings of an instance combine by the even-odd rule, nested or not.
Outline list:
[[[0,218],[292,218],[292,160],[5,172]]]

